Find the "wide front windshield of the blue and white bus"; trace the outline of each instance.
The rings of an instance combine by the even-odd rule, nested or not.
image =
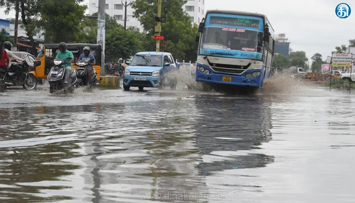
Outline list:
[[[225,49],[261,53],[262,32],[229,27],[205,27],[201,49]]]

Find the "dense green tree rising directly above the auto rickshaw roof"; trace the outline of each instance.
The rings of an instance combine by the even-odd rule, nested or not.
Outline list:
[[[46,42],[73,43],[82,33],[80,23],[84,18],[87,5],[84,0],[38,0],[37,8],[41,14],[39,21],[44,30]]]

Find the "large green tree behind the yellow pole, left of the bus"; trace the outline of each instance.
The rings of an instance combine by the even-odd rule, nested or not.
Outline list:
[[[197,58],[198,43],[195,41],[199,36],[198,26],[191,24],[191,17],[182,9],[186,0],[169,0],[162,4],[162,31],[164,41],[161,43],[161,51],[170,52],[174,58],[195,61]],[[136,0],[132,4],[134,16],[143,25],[147,32],[145,50],[156,50],[154,27],[155,17],[158,13],[158,1],[156,0]]]

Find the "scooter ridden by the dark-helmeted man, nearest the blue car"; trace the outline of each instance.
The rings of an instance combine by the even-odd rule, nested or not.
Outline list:
[[[77,82],[75,84],[76,88],[81,87],[81,86],[88,86],[87,85],[87,72],[88,69],[90,68],[89,60],[82,59],[76,63],[79,67],[76,68],[77,72]],[[96,86],[96,81],[97,81],[97,73],[95,72],[95,69],[91,69],[91,75],[89,79],[89,88],[92,89]]]

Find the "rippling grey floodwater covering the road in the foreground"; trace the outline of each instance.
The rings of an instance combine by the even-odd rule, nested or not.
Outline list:
[[[271,84],[0,93],[0,202],[353,202],[353,94]]]

